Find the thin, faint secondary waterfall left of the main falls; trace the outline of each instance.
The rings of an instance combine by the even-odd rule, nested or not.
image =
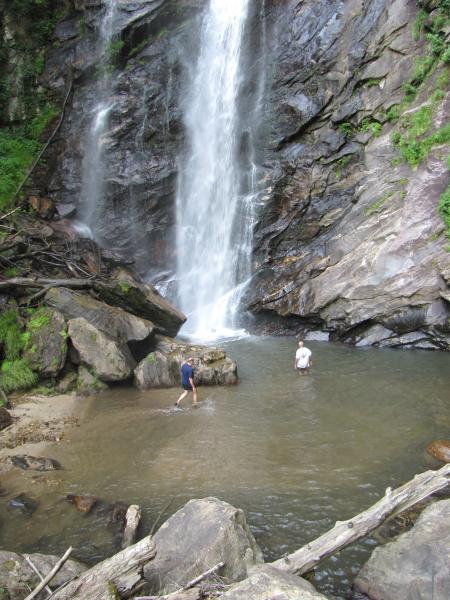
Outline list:
[[[111,102],[111,59],[114,43],[114,22],[118,0],[105,0],[105,11],[97,43],[99,56],[98,83],[95,89],[97,104],[94,106],[88,128],[82,164],[80,198],[80,222],[78,231],[86,237],[96,238],[96,224],[101,218],[105,194],[105,135],[108,131]]]

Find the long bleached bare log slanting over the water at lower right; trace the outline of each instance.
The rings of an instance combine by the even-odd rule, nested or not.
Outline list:
[[[420,473],[396,490],[388,488],[384,497],[364,512],[347,521],[337,521],[314,541],[271,564],[282,571],[304,575],[324,559],[366,536],[387,518],[411,508],[449,483],[450,464],[438,471]]]

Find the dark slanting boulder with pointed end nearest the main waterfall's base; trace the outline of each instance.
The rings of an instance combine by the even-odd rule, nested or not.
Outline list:
[[[156,331],[175,336],[186,321],[185,315],[177,310],[158,291],[129,279],[98,281],[94,284],[98,296],[108,304],[119,306],[127,312],[149,319]]]

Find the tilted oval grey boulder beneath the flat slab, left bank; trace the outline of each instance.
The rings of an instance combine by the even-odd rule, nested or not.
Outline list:
[[[81,363],[93,369],[102,381],[123,381],[132,374],[136,364],[128,348],[86,319],[71,319],[69,336]]]

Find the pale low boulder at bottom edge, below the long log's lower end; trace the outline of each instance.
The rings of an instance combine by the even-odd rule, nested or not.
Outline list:
[[[326,600],[305,579],[263,565],[252,567],[247,579],[232,585],[223,600]]]

